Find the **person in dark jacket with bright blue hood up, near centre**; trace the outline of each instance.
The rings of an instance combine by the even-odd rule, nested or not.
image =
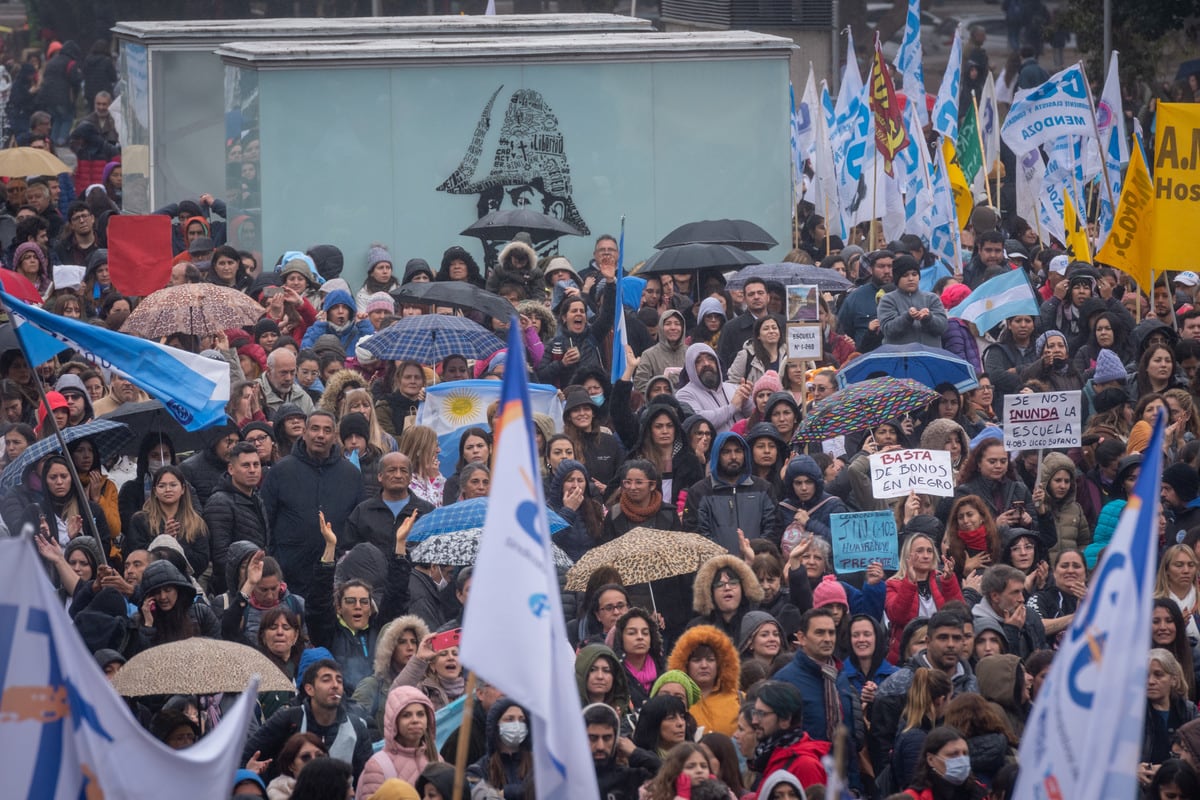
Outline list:
[[[720,433],[709,456],[709,476],[688,489],[684,530],[694,530],[742,555],[740,530],[746,539],[779,542],[775,504],[767,482],[751,473],[750,446],[736,433]]]

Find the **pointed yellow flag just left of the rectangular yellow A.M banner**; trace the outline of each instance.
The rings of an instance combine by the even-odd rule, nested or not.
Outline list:
[[[1129,152],[1129,169],[1117,200],[1112,233],[1096,254],[1096,260],[1108,264],[1132,277],[1146,295],[1154,291],[1151,270],[1154,266],[1154,184],[1146,169],[1141,140]]]

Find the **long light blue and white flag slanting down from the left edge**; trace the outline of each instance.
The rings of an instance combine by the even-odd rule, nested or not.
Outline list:
[[[226,419],[229,365],[29,306],[0,291],[31,365],[73,349],[160,401],[187,431]]]

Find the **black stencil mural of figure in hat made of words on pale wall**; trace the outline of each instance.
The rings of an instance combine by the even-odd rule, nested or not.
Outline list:
[[[563,134],[558,118],[546,104],[541,92],[517,89],[509,98],[500,127],[499,144],[492,161],[492,172],[475,178],[484,139],[492,125],[492,106],[504,86],[492,92],[475,125],[475,134],[467,146],[458,168],[437,191],[448,194],[478,194],[476,218],[500,209],[529,206],[574,225],[581,235],[592,233],[571,197],[571,170],[566,162]],[[496,266],[497,255],[508,241],[484,241],[484,261],[488,270]],[[538,240],[539,255],[558,253],[558,236]]]

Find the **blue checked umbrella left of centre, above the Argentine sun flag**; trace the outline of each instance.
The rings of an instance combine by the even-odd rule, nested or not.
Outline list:
[[[494,333],[466,317],[424,314],[406,317],[379,331],[360,347],[377,359],[437,363],[448,355],[486,359],[504,349]]]

